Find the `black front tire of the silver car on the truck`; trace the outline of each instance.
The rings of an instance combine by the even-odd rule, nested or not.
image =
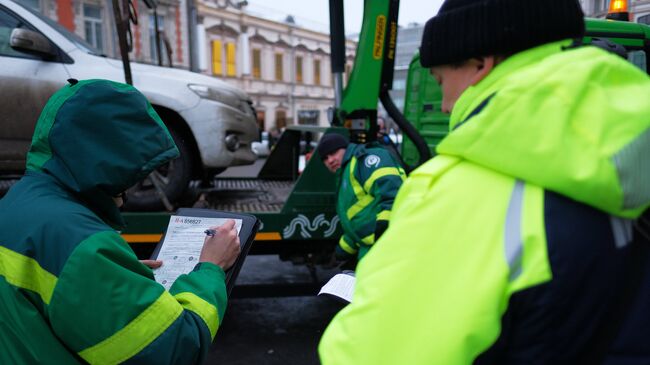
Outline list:
[[[175,206],[187,190],[192,176],[192,150],[180,133],[171,128],[169,132],[178,147],[180,157],[159,167],[152,174],[157,174],[159,181],[162,182],[162,190],[165,192],[167,200]],[[150,175],[127,191],[124,210],[167,210],[151,179]]]

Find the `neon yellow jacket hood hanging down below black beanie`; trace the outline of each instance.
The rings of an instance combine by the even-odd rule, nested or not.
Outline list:
[[[468,88],[438,153],[637,217],[650,204],[650,80],[569,43],[518,53]]]

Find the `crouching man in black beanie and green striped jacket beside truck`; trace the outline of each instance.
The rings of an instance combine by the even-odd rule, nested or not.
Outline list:
[[[337,174],[336,213],[343,236],[336,257],[361,260],[388,227],[404,169],[379,145],[351,144],[336,133],[324,135],[316,150],[325,167]]]

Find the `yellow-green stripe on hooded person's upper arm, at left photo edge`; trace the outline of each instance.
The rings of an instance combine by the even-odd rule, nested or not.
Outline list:
[[[11,285],[36,292],[45,304],[50,304],[58,280],[38,261],[6,247],[0,247],[0,275]]]

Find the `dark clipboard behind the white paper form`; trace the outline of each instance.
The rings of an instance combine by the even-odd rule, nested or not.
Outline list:
[[[244,261],[246,260],[246,255],[248,255],[248,252],[250,251],[250,248],[253,245],[255,234],[257,233],[257,230],[259,229],[260,226],[259,219],[257,219],[257,217],[251,214],[222,212],[213,209],[199,209],[199,208],[180,208],[176,211],[174,215],[183,216],[183,217],[198,217],[198,218],[204,217],[204,218],[241,220],[241,228],[239,230],[239,244],[241,245],[241,252],[237,257],[237,259],[235,260],[235,263],[232,265],[232,267],[230,267],[230,269],[226,271],[226,292],[228,293],[228,296],[230,296],[230,292],[232,291],[232,288],[235,286],[235,281],[237,280],[237,276],[239,275],[241,267],[243,266]],[[165,241],[166,235],[167,232],[165,231],[162,235],[162,238],[156,245],[153,254],[151,255],[152,260],[155,260],[158,257],[160,253],[160,249],[162,248],[162,244]]]

